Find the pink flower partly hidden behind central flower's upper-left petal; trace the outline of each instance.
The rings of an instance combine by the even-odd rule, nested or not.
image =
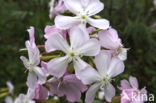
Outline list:
[[[56,28],[56,26],[46,26],[45,29],[44,29],[44,37],[46,39],[48,39],[51,35],[55,34],[55,33],[59,33],[61,34],[65,39],[66,39],[66,35],[67,35],[67,30],[61,30],[61,29],[58,29]],[[51,51],[54,51],[55,48],[51,48],[47,42],[45,42],[45,49],[47,52],[51,52]]]

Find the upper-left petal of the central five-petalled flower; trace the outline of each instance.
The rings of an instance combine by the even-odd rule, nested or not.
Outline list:
[[[69,45],[67,41],[59,34],[54,33],[47,39],[47,45],[56,50],[62,50],[65,53],[69,51]]]

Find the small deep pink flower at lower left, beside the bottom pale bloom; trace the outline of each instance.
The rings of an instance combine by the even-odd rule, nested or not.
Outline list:
[[[44,86],[38,83],[37,88],[35,90],[35,97],[36,100],[48,100],[49,91]]]

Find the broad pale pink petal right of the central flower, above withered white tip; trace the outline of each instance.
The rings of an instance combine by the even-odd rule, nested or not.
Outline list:
[[[121,40],[118,37],[118,33],[115,29],[109,28],[98,33],[100,43],[104,48],[117,49],[122,46]]]

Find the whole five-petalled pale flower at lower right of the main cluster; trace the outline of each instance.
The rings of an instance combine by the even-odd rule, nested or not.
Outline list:
[[[85,102],[92,103],[99,89],[104,92],[105,99],[111,102],[111,99],[115,96],[115,88],[110,82],[113,77],[124,71],[124,64],[118,58],[112,58],[111,53],[106,51],[101,51],[95,57],[94,63],[97,71],[88,66],[79,73],[79,78],[84,84],[93,83],[86,93]]]

